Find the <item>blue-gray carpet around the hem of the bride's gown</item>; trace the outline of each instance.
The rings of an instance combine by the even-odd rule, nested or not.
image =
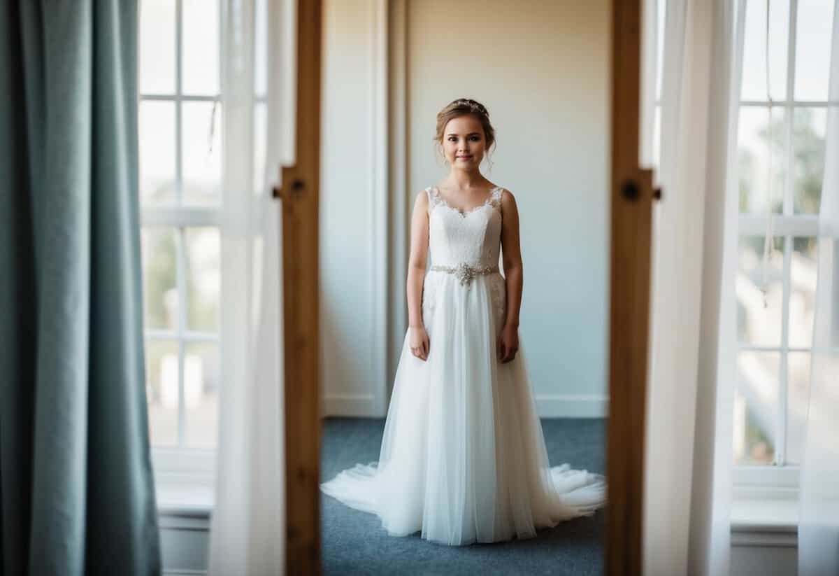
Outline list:
[[[543,418],[551,465],[605,474],[606,421]],[[355,463],[378,460],[384,419],[326,418],[320,450],[320,479]],[[320,494],[323,571],[326,574],[601,574],[604,512],[560,522],[535,538],[449,547],[420,538],[390,537],[373,514],[352,510]]]

